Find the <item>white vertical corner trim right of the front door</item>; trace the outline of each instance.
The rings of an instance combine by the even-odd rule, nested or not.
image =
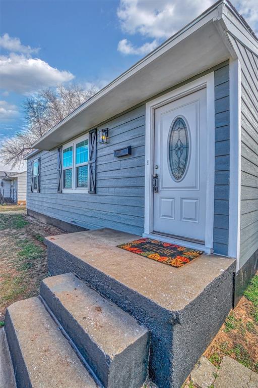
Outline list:
[[[229,230],[228,256],[240,255],[241,200],[241,65],[238,59],[229,62],[230,156],[229,156]]]

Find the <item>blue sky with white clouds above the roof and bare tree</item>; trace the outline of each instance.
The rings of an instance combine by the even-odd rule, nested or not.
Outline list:
[[[25,128],[27,96],[69,82],[100,89],[213,3],[1,0],[0,147]],[[258,0],[232,3],[257,33]]]

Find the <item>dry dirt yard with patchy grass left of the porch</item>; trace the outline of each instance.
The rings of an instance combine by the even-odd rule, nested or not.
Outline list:
[[[61,233],[23,209],[0,209],[0,326],[9,305],[38,295],[40,281],[48,276],[43,239]]]

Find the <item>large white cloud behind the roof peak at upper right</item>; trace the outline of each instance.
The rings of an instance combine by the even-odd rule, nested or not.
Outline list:
[[[126,55],[147,54],[214,3],[215,0],[120,0],[117,16],[122,31],[154,40],[137,47],[124,38],[117,50]],[[250,27],[258,31],[258,0],[232,0],[232,3]]]

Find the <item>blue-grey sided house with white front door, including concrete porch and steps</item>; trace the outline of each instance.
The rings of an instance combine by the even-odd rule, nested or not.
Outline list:
[[[43,303],[95,381],[181,386],[257,269],[257,92],[258,40],[220,0],[35,142],[28,214],[76,233],[46,239],[41,299],[8,310],[18,380],[36,373],[21,332],[40,341],[47,322],[64,352]],[[117,248],[139,236],[204,254],[173,268]],[[47,378],[66,378],[53,359]]]

